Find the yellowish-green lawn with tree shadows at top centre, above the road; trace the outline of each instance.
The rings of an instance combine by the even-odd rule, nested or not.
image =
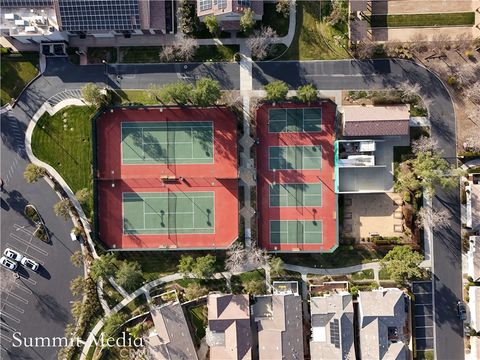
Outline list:
[[[347,59],[347,24],[331,26],[325,20],[330,2],[297,2],[295,36],[281,60]]]

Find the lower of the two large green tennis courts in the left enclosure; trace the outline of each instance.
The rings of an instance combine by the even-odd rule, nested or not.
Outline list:
[[[123,193],[124,234],[213,234],[213,192]]]

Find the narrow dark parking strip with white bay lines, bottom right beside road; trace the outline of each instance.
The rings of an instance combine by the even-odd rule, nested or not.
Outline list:
[[[433,293],[431,281],[415,281],[413,283],[415,342],[417,351],[433,350]]]

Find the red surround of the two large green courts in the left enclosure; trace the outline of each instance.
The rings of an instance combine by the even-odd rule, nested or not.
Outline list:
[[[211,124],[213,140],[211,132],[207,135],[210,141],[213,141],[213,146],[208,151],[213,150],[213,154],[209,155],[211,158],[207,159],[208,163],[177,163],[176,161],[142,163],[142,159],[145,158],[146,146],[150,144],[144,142],[143,128],[141,128],[141,132],[138,131],[138,134],[142,136],[141,141],[137,141],[140,144],[137,144],[140,146],[139,149],[144,150],[143,157],[140,154],[139,161],[136,163],[124,161],[125,154],[123,152],[125,149],[123,147],[125,146],[126,136],[122,133],[122,128],[127,127],[125,124],[128,127],[132,127],[132,125],[135,127],[135,125],[140,126],[140,123],[144,123],[141,126],[146,129],[153,128],[152,133],[158,134],[157,130],[159,129],[156,127],[163,127],[160,129],[161,132],[167,126],[168,132],[168,124],[172,124],[172,126],[180,124],[181,126],[182,122],[185,124],[186,122],[193,123],[194,125]],[[95,126],[97,134],[97,169],[95,174],[98,201],[97,235],[101,241],[115,249],[210,249],[227,248],[237,239],[237,126],[236,118],[228,109],[115,108],[107,110],[98,117]],[[194,131],[192,130],[192,133]],[[163,140],[158,141],[161,143]],[[183,144],[178,138],[177,141],[178,143],[175,144],[177,154],[183,151],[183,146],[191,146],[191,150],[187,150],[191,151],[193,159],[196,158],[193,143]],[[165,145],[167,149],[173,146],[168,144],[167,142],[167,145]],[[158,144],[154,146],[161,147]],[[138,148],[132,146],[132,149],[129,149],[132,154],[139,152]],[[213,225],[211,226],[214,228],[214,233],[190,234],[185,233],[184,229],[182,233],[168,231],[168,234],[124,232],[125,219],[122,194],[191,194],[195,192],[213,193],[214,208],[211,215],[214,219],[212,219]],[[194,207],[196,207],[196,204],[192,202],[192,209]],[[201,214],[202,210],[200,209],[197,214]],[[158,212],[158,210],[152,211]],[[145,214],[143,215],[145,216]],[[193,217],[195,219],[195,215]],[[198,218],[194,222],[198,223]],[[188,225],[186,227],[188,228]]]

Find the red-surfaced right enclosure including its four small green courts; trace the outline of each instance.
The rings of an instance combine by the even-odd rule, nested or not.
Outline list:
[[[284,125],[278,109],[285,109]],[[263,105],[257,111],[258,230],[263,248],[336,249],[334,119],[335,105],[330,101]],[[277,195],[274,189],[279,187]],[[301,191],[295,193],[298,188]]]

